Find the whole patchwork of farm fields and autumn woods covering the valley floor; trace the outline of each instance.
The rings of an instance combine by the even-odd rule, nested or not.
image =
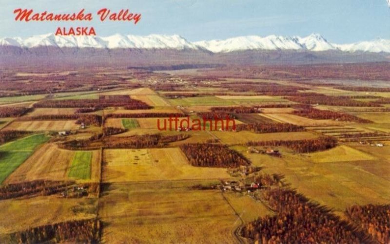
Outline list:
[[[390,97],[387,63],[169,71],[155,61],[146,68],[1,70],[0,243],[22,232],[20,242],[39,243],[55,226],[74,228],[68,235],[80,243],[284,243],[276,236],[295,234],[291,226],[296,233],[322,228],[333,238],[326,229],[344,226],[333,214],[351,224],[346,209],[389,205],[390,105],[381,99]],[[14,93],[27,95],[7,96]],[[80,99],[101,95],[107,106],[83,107]],[[327,119],[294,113],[308,111]],[[85,113],[63,119],[77,112]],[[167,121],[162,129],[174,113],[183,127],[189,118],[189,128],[176,130],[173,121],[169,130]],[[213,130],[209,122],[193,129],[203,116],[228,116],[240,126],[219,130],[222,123],[214,128],[212,120]],[[334,222],[321,227],[313,218]],[[96,222],[78,222],[86,219]]]

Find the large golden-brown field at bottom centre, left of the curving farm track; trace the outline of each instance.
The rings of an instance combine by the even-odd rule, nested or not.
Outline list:
[[[103,243],[236,243],[241,223],[218,190],[199,182],[110,184],[98,216]]]

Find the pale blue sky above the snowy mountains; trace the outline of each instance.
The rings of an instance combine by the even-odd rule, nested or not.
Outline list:
[[[98,36],[178,34],[190,41],[245,35],[307,36],[332,42],[390,39],[386,0],[0,0],[0,37],[55,33],[57,27],[93,26]],[[133,22],[100,22],[100,8],[141,13]],[[73,13],[85,8],[94,21],[17,22],[16,8]]]

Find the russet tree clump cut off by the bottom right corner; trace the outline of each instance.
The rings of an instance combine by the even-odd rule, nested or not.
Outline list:
[[[345,213],[352,223],[367,231],[376,241],[390,243],[390,205],[351,206]]]

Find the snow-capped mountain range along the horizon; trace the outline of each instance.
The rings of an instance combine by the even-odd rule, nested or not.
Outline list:
[[[308,37],[244,36],[225,40],[190,42],[178,35],[123,36],[55,36],[54,34],[30,38],[0,38],[0,46],[35,48],[54,46],[59,48],[98,48],[98,49],[176,49],[206,50],[213,53],[228,53],[245,50],[307,50],[313,52],[339,50],[344,52],[390,53],[390,40],[375,39],[351,44],[335,44],[319,34]]]

